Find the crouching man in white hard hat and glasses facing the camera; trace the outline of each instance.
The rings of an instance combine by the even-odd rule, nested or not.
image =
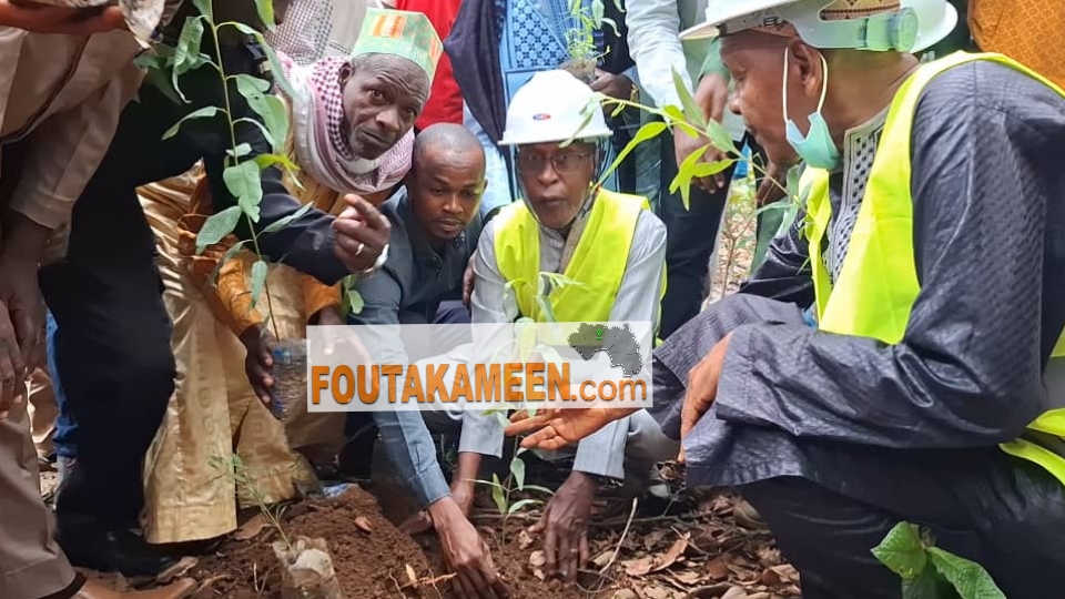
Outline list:
[[[666,226],[646,199],[595,185],[611,132],[602,111],[589,110],[592,95],[591,88],[566,71],[539,72],[515,93],[501,143],[516,149],[523,201],[503,209],[481,233],[470,300],[475,324],[518,317],[545,322],[535,285],[516,285],[510,293],[507,284],[535,282],[548,272],[580,287],[549,292],[555,321],[651,322],[657,332]],[[459,451],[500,456],[504,440],[495,415],[470,412]],[[574,458],[572,471],[534,527],[545,532],[548,573],[559,571],[575,581],[589,559],[585,530],[600,483],[623,479],[626,470],[646,475],[676,450],[676,441],[647,413],[637,413],[567,455]]]

